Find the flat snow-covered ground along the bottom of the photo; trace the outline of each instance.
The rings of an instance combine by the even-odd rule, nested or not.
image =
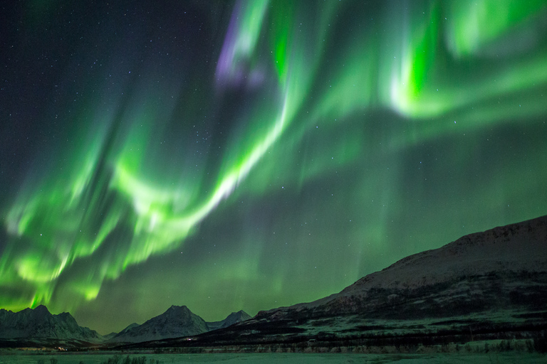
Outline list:
[[[132,358],[133,355],[130,355]],[[142,357],[143,355],[135,355]],[[264,354],[147,354],[146,364],[189,364],[189,363],[547,363],[547,355],[536,353],[428,353],[428,354],[300,354],[300,353],[264,353]],[[2,355],[1,364],[100,364],[112,355],[103,354],[53,354],[53,355]],[[123,356],[125,358],[125,356]],[[43,361],[40,361],[43,360]],[[54,361],[54,360],[53,360]],[[123,360],[120,360],[123,363]]]

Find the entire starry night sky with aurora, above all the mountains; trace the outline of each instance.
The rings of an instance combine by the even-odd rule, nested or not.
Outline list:
[[[13,1],[0,307],[312,301],[547,214],[547,2]]]

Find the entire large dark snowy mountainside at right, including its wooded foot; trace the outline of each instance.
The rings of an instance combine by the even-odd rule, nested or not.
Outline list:
[[[316,301],[259,311],[229,328],[172,346],[248,346],[311,341],[349,345],[400,336],[437,337],[442,330],[466,342],[530,336],[547,328],[547,215],[464,235],[434,250],[410,255]],[[395,335],[395,336],[394,336]],[[384,341],[382,341],[384,342]],[[298,346],[297,345],[297,346]],[[298,346],[299,347],[299,346]]]

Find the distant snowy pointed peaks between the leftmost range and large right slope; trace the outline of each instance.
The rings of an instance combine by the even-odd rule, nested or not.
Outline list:
[[[236,322],[250,319],[244,311],[232,312],[226,319],[216,322],[205,322],[201,317],[193,314],[187,306],[171,306],[160,316],[156,316],[142,325],[132,323],[110,338],[110,343],[139,343],[142,341],[161,340],[164,338],[178,338],[194,336],[207,331],[225,328]]]

